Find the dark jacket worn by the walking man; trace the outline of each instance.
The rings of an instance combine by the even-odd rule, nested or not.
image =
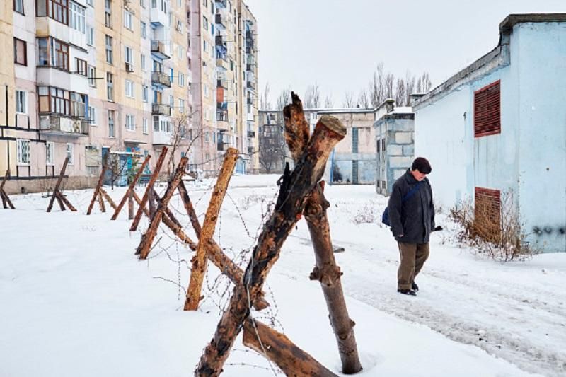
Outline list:
[[[429,180],[424,178],[409,199],[403,197],[419,181],[412,176],[410,169],[393,183],[389,197],[389,223],[395,240],[405,243],[427,243],[430,232],[434,229],[434,204]],[[403,237],[399,237],[403,234]]]

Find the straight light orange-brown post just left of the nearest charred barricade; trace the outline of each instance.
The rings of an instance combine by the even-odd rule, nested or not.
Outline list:
[[[226,195],[237,160],[238,149],[229,148],[224,155],[224,162],[216,180],[214,192],[212,192],[212,197],[210,198],[207,214],[204,216],[197,255],[192,258],[189,287],[185,299],[185,311],[196,311],[199,306],[202,281],[204,280],[204,274],[207,272],[207,245],[209,240],[212,240],[212,236],[214,236],[214,228],[216,228],[220,207],[224,200],[224,195]]]

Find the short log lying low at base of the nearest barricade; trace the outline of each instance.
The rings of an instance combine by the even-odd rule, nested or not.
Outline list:
[[[337,377],[284,334],[257,320],[243,323],[243,344],[277,364],[285,376]]]

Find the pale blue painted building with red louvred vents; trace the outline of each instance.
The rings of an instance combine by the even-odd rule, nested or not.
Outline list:
[[[415,155],[431,161],[438,204],[497,211],[510,195],[527,240],[566,252],[566,14],[510,15],[499,33],[414,104]]]

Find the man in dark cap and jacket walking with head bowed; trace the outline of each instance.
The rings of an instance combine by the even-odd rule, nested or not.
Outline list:
[[[397,291],[416,296],[415,277],[429,256],[429,237],[434,230],[434,204],[427,174],[432,171],[426,158],[418,157],[410,169],[393,184],[388,217],[393,237],[399,244],[401,262]]]

